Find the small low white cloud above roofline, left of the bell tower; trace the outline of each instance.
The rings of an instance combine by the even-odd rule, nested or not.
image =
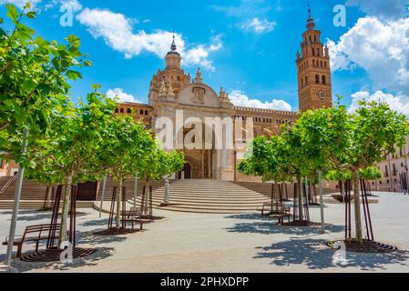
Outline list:
[[[271,102],[262,102],[259,99],[251,99],[243,91],[233,90],[230,93],[230,101],[236,106],[246,106],[254,108],[264,108],[264,109],[276,109],[291,111],[291,105],[283,100],[272,99]]]

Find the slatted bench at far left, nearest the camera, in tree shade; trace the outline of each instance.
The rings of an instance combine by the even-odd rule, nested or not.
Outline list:
[[[24,243],[36,242],[36,252],[38,251],[38,245],[40,241],[48,240],[48,234],[51,230],[55,233],[55,236],[58,236],[60,226],[51,226],[51,225],[37,225],[37,226],[26,226],[26,230],[23,236],[15,236],[15,241],[13,246],[17,246],[17,255],[20,257]],[[36,234],[36,236],[34,235]],[[3,246],[8,245],[8,236],[5,237],[5,241],[2,244]]]

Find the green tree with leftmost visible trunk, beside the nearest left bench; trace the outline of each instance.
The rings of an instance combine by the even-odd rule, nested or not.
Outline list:
[[[66,220],[72,186],[92,181],[101,175],[97,153],[112,119],[115,102],[97,92],[87,95],[87,103],[66,102],[56,108],[49,118],[50,126],[44,139],[38,140],[36,151],[41,165],[52,166],[64,176],[65,190],[58,246],[66,241]],[[41,170],[41,167],[39,168]]]

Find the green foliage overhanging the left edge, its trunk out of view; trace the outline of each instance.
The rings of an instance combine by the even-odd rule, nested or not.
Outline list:
[[[79,51],[79,39],[66,37],[66,45],[48,42],[22,23],[36,17],[26,5],[18,13],[15,5],[5,5],[14,24],[12,32],[0,27],[0,157],[22,164],[23,132],[29,129],[31,141],[45,131],[60,95],[66,95],[67,80],[81,77],[75,67],[90,65]],[[0,24],[3,19],[0,18]]]

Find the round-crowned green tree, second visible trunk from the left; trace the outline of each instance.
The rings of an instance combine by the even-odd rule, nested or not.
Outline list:
[[[122,185],[127,176],[134,175],[142,161],[154,149],[154,141],[145,125],[131,116],[117,115],[108,124],[102,146],[97,153],[100,164],[118,184],[117,228],[120,227]]]

